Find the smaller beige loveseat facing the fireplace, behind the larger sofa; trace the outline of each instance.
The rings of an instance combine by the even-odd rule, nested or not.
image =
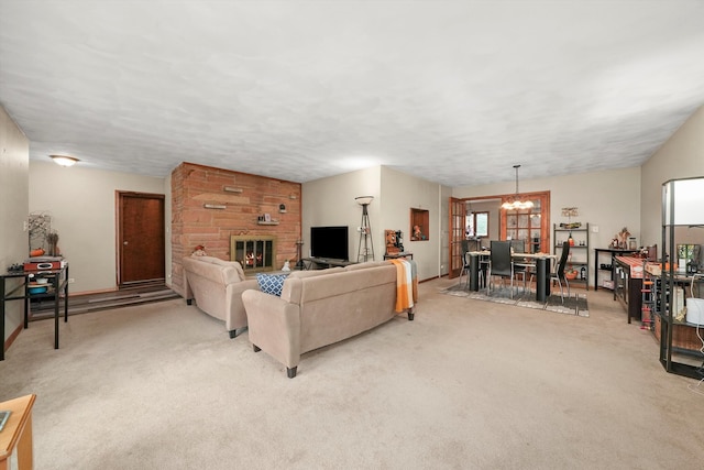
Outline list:
[[[238,329],[246,327],[242,293],[258,289],[256,280],[245,278],[237,261],[186,256],[183,263],[186,303],[190,305],[196,299],[198,308],[223,320],[230,338],[234,338]]]

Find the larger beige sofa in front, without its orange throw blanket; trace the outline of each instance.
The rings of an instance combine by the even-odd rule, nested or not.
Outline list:
[[[242,294],[250,341],[254,351],[263,349],[286,365],[293,379],[302,353],[398,315],[396,283],[396,266],[389,261],[294,271],[284,282],[280,297],[257,291]],[[414,307],[404,311],[414,319]]]

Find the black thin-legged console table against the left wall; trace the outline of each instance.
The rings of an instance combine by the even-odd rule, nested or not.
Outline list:
[[[48,278],[46,293],[30,294],[30,282],[35,277]],[[20,282],[8,291],[8,280],[16,278]],[[63,294],[63,295],[62,295]],[[0,361],[4,360],[4,303],[9,300],[24,302],[24,328],[30,326],[30,299],[31,298],[53,298],[54,299],[54,349],[58,349],[58,318],[61,298],[64,298],[64,323],[68,321],[68,264],[58,270],[51,271],[8,271],[0,274]]]

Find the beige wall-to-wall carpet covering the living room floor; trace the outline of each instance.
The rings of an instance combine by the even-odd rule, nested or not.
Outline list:
[[[590,317],[420,285],[298,376],[182,299],[35,321],[0,401],[36,393],[35,469],[698,469],[704,396],[609,293]]]

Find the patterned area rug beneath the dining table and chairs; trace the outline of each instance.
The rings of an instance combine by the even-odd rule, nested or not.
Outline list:
[[[469,291],[464,285],[453,285],[442,291],[443,294],[455,295],[458,297],[473,298],[476,300],[494,302],[497,304],[515,305],[518,307],[534,308],[538,310],[554,311],[558,314],[576,315],[580,317],[588,317],[590,310],[586,304],[585,294],[571,293],[570,297],[564,297],[564,304],[560,297],[560,292],[553,292],[543,302],[536,302],[536,292],[517,288],[514,291],[514,298],[510,298],[509,287],[493,289],[486,294],[486,289],[479,292]]]

